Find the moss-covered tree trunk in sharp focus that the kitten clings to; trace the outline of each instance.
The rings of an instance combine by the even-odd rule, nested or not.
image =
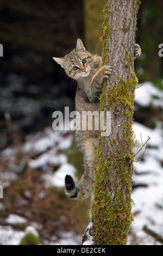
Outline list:
[[[140,1],[105,1],[103,64],[112,68],[104,82],[100,111],[111,111],[111,134],[99,135],[92,202],[93,245],[126,245],[131,213],[136,15]]]

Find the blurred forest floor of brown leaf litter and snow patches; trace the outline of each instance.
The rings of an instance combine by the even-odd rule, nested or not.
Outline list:
[[[152,83],[136,89],[134,153],[150,139],[145,154],[146,145],[135,157],[128,245],[163,243],[162,109],[163,92]],[[46,127],[23,137],[11,123],[8,129],[13,143],[0,154],[0,245],[19,245],[28,231],[40,237],[41,245],[81,245],[91,202],[74,202],[64,193],[65,175],[77,181],[83,169],[73,133]]]

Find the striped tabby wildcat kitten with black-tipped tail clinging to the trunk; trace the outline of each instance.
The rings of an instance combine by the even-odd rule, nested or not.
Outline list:
[[[135,44],[134,59],[140,54],[141,48]],[[64,58],[53,59],[65,69],[69,77],[78,81],[75,103],[76,111],[81,117],[83,111],[98,111],[102,82],[104,78],[110,77],[111,67],[102,66],[101,57],[86,51],[80,39],[77,40],[76,48]],[[82,118],[80,121],[82,123]],[[98,132],[95,129],[76,130],[77,147],[83,153],[85,171],[77,185],[70,175],[65,176],[65,192],[68,198],[82,200],[93,192],[92,185],[95,181],[93,166],[96,161],[94,151],[98,146]]]

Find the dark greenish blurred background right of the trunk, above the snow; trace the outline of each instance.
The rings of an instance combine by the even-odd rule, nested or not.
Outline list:
[[[159,88],[163,88],[163,58],[158,57],[158,46],[163,41],[162,9],[162,1],[144,0],[137,15],[137,42],[142,47],[142,56],[136,74],[140,81],[153,81]]]

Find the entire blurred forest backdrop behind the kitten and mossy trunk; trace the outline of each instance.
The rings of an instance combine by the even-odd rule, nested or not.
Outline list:
[[[90,199],[65,197],[64,176],[79,179],[83,157],[71,131],[53,131],[52,114],[74,110],[76,83],[52,57],[76,46],[101,54],[104,3],[100,0],[1,0],[0,244],[80,245],[90,221]],[[133,179],[130,245],[163,243],[163,2],[142,1],[137,16],[134,131],[141,148]],[[144,137],[143,137],[144,135]],[[158,239],[159,237],[159,239]]]

